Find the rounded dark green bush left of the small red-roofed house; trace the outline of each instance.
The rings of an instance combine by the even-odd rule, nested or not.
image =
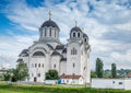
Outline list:
[[[46,72],[46,80],[57,80],[57,79],[59,79],[57,70],[49,70],[48,72]]]

